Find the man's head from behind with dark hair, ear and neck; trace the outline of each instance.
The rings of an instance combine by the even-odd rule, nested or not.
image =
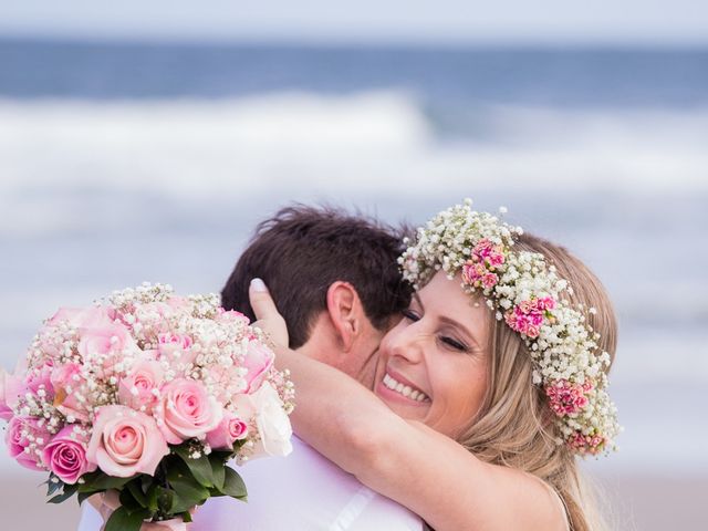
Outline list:
[[[253,320],[248,287],[262,279],[292,348],[361,376],[392,317],[410,300],[396,262],[402,236],[336,209],[284,208],[258,226],[221,303]]]

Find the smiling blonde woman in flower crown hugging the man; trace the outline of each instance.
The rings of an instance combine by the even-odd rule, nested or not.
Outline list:
[[[285,347],[298,435],[435,530],[598,530],[577,456],[612,449],[606,394],[616,322],[565,249],[470,201],[436,216],[400,258],[416,288],[381,343],[374,393]],[[258,280],[257,323],[284,321]]]

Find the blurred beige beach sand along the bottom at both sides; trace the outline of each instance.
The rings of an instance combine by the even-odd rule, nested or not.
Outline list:
[[[3,531],[72,531],[79,522],[74,499],[48,504],[38,487],[41,475],[4,475],[0,486]],[[665,531],[699,529],[705,524],[708,476],[674,478],[650,475],[602,477],[598,482],[611,502],[613,529]],[[238,531],[238,527],[233,528]]]

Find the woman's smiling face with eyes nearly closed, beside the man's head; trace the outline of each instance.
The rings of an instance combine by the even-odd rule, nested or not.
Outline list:
[[[470,425],[487,391],[489,320],[438,272],[417,292],[404,319],[382,340],[374,393],[404,418],[456,438]]]

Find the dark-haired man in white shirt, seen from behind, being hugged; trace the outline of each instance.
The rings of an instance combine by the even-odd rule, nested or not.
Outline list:
[[[381,339],[407,308],[396,266],[402,235],[362,217],[296,206],[260,223],[221,292],[222,305],[254,320],[250,281],[262,279],[288,324],[290,347],[372,387]],[[296,398],[296,397],[295,397]],[[293,437],[287,458],[239,468],[249,502],[209,499],[191,531],[421,530],[418,517]],[[80,531],[100,522],[84,508]]]

